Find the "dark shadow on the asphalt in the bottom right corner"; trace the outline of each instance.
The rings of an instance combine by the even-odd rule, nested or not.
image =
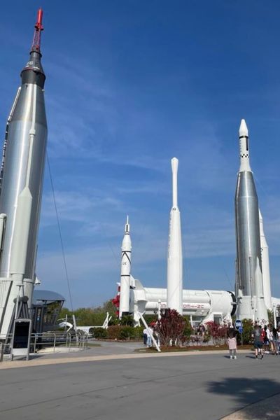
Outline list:
[[[244,407],[242,419],[254,419],[254,420],[265,420],[265,419],[279,419],[279,403],[276,405],[265,404],[265,399],[272,397],[280,393],[280,382],[274,381],[274,379],[249,379],[246,377],[241,378],[227,378],[223,381],[211,381],[207,384],[208,391],[210,393],[216,393],[220,395],[231,395],[240,405]],[[277,401],[279,397],[276,397]],[[260,402],[258,409],[253,409],[251,405],[255,402]]]

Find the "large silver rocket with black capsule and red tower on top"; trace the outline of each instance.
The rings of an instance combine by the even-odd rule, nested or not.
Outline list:
[[[38,10],[34,39],[21,87],[8,118],[0,195],[0,333],[8,332],[14,299],[31,300],[35,281],[47,122],[45,73],[41,65],[43,10]]]

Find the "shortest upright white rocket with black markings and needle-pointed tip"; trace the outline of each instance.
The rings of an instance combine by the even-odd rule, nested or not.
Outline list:
[[[125,223],[125,236],[122,245],[122,261],[120,266],[120,309],[119,318],[130,313],[130,272],[131,272],[132,243],[130,239],[130,225]]]

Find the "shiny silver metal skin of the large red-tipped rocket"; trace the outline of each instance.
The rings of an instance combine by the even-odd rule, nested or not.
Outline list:
[[[1,255],[0,276],[10,275],[10,251],[13,241],[15,214],[18,196],[25,188],[27,179],[27,163],[29,158],[29,130],[31,128],[32,103],[34,85],[22,85],[13,118],[10,121],[8,142],[6,147],[5,170],[1,188],[0,213],[7,214],[5,246]],[[41,87],[36,89],[36,136],[31,156],[31,174],[29,190],[32,195],[31,225],[27,248],[25,278],[34,279],[34,258],[38,221],[41,209],[41,193],[43,187],[43,171],[45,165],[45,147],[47,139],[47,123],[45,104]]]

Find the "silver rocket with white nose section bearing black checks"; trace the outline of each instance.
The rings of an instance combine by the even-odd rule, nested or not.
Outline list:
[[[239,128],[240,168],[235,193],[237,242],[237,318],[267,321],[262,287],[258,195],[249,161],[248,129]]]

